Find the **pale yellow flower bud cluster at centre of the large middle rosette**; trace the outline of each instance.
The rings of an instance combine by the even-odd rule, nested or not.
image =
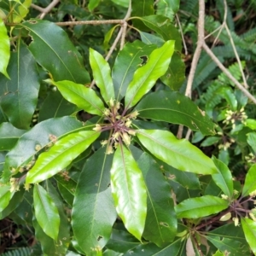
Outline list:
[[[117,148],[119,143],[131,144],[131,136],[136,135],[136,131],[131,128],[132,119],[136,119],[138,112],[120,114],[120,102],[110,99],[109,108],[105,108],[103,114],[108,124],[96,124],[94,131],[112,131],[112,136],[108,140],[102,141],[102,146],[108,145],[107,154],[113,153],[113,148]]]

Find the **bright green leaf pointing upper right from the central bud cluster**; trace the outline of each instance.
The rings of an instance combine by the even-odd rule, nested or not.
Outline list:
[[[174,42],[167,41],[149,55],[148,62],[137,69],[125,95],[125,107],[131,108],[154,86],[157,79],[166,73],[174,50]]]

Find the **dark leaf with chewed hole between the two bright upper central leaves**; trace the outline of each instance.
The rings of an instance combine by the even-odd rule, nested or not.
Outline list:
[[[148,56],[154,49],[155,45],[143,44],[136,40],[125,44],[124,49],[119,51],[112,70],[113,88],[117,100],[120,101],[125,96],[137,67],[143,66],[144,60],[148,61]]]

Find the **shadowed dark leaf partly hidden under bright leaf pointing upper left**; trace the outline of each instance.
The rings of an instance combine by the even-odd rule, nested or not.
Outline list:
[[[59,90],[49,91],[46,96],[38,115],[38,122],[46,119],[57,118],[71,115],[79,111],[79,108],[63,98]]]

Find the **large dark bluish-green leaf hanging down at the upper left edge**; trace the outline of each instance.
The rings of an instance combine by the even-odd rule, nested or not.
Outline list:
[[[8,67],[9,79],[0,75],[3,112],[12,125],[29,129],[38,103],[39,78],[36,61],[26,45],[18,41]]]

